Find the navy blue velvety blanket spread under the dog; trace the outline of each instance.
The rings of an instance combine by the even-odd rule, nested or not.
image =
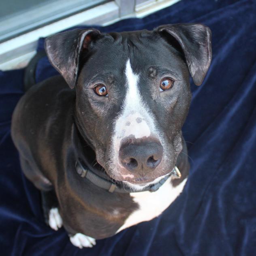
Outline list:
[[[159,217],[73,246],[63,228],[46,226],[41,198],[21,173],[10,137],[12,111],[23,94],[24,70],[0,72],[1,255],[256,255],[256,1],[182,0],[144,19],[103,32],[201,22],[212,30],[213,61],[203,85],[191,85],[183,135],[191,170],[181,196]],[[38,50],[43,47],[43,39]],[[56,71],[47,58],[41,81]]]

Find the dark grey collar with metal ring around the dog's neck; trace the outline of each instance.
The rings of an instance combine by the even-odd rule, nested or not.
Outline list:
[[[114,181],[109,181],[108,179],[104,179],[97,174],[95,174],[93,171],[91,171],[87,166],[85,166],[84,163],[81,162],[81,160],[77,160],[76,166],[75,166],[77,173],[85,179],[88,179],[90,182],[92,182],[94,185],[103,188],[105,190],[108,190],[109,192],[117,192],[117,193],[130,193],[130,188],[128,188],[124,183],[122,186],[119,186],[119,184],[115,183]],[[154,185],[150,185],[143,190],[140,190],[138,192],[143,191],[150,191],[155,192],[158,190],[164,182],[173,175],[174,178],[181,178],[181,173],[179,172],[179,169],[177,166],[173,168],[173,170],[166,175],[164,178],[162,178],[158,183]]]

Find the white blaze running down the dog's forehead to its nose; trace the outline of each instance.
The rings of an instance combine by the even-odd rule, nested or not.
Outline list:
[[[118,154],[121,140],[128,136],[135,139],[156,136],[154,119],[149,114],[149,108],[141,98],[138,88],[139,74],[135,74],[130,65],[130,59],[126,62],[126,96],[122,105],[122,111],[116,119],[113,134],[113,159],[118,162]],[[117,164],[116,163],[116,164]]]

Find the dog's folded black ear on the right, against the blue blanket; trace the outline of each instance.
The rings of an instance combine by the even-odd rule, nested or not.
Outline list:
[[[203,24],[183,23],[163,25],[155,31],[169,43],[174,41],[173,38],[177,41],[194,83],[201,85],[211,63],[211,30]]]

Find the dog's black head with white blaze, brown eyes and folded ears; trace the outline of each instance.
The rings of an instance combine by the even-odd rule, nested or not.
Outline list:
[[[172,171],[190,105],[189,74],[200,85],[211,62],[208,27],[72,30],[47,38],[45,49],[76,88],[83,136],[110,177],[145,186]]]

